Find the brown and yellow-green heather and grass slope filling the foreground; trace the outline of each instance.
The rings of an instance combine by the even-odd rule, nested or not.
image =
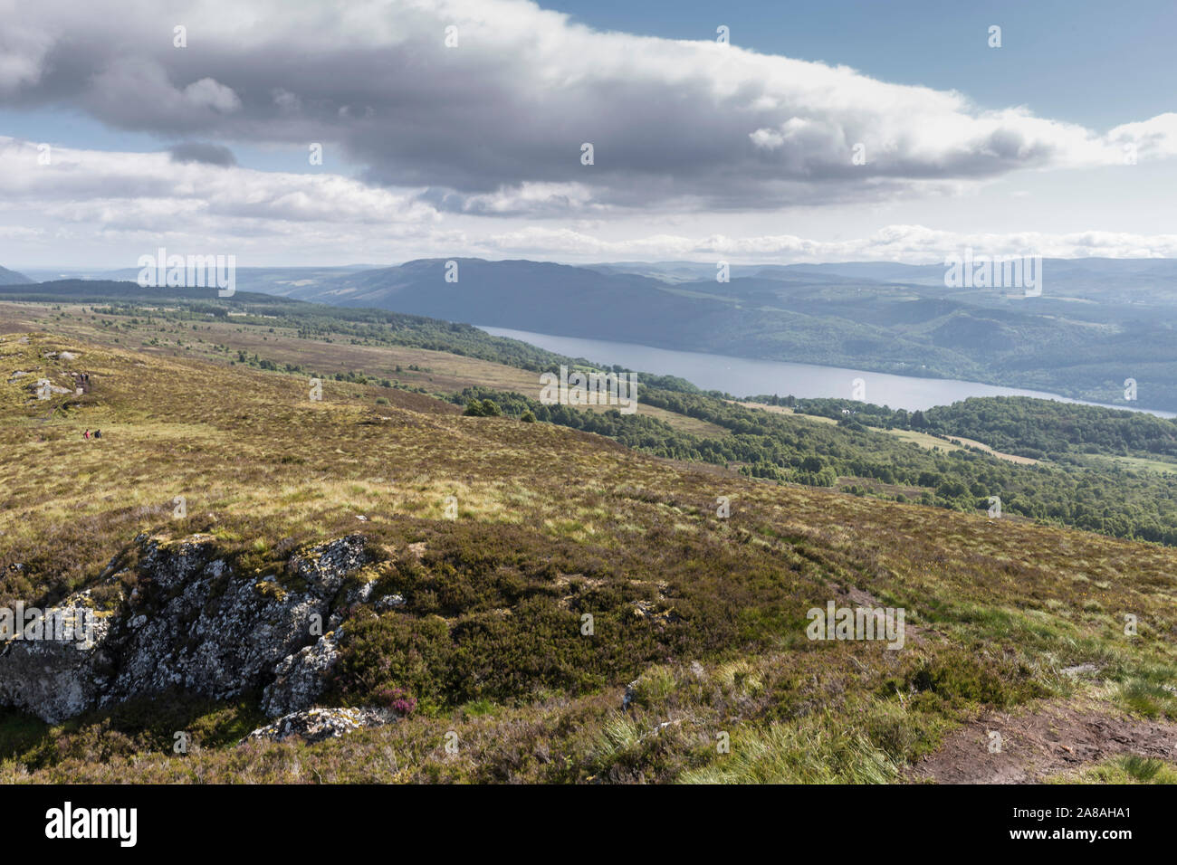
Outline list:
[[[5,779],[893,780],[983,707],[1090,691],[1177,710],[1162,688],[1177,670],[1177,550],[762,484],[404,391],[326,381],[312,402],[300,377],[78,337],[0,341],[6,372],[64,381],[51,348],[79,352],[95,387],[49,415],[0,382],[0,561],[25,565],[5,571],[0,601],[88,585],[141,531],[211,532],[262,568],[361,528],[410,603],[352,623],[334,697],[395,685],[421,708],[313,747],[225,747],[258,720],[248,700],[53,730],[5,716]],[[862,593],[907,610],[906,648],[805,639],[807,608]],[[1125,613],[1139,636],[1124,636]],[[428,661],[373,673],[407,645]],[[1098,685],[1059,672],[1088,663]],[[202,750],[174,757],[180,728]]]

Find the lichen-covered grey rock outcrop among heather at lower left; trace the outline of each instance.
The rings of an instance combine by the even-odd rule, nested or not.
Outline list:
[[[49,723],[169,688],[224,699],[265,687],[271,716],[313,704],[338,652],[333,610],[371,591],[340,594],[366,563],[361,535],[291,557],[280,580],[235,573],[211,535],[138,543],[138,586],[99,617],[91,645],[9,640],[0,650],[0,704]]]

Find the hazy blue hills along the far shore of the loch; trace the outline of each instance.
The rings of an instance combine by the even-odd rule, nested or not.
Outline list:
[[[597,265],[455,258],[308,281],[286,297],[660,348],[953,378],[1177,411],[1168,261],[1048,260],[1040,297],[947,288],[943,266]],[[937,275],[938,274],[938,275]],[[259,285],[264,291],[271,287]],[[619,311],[624,310],[624,314]]]

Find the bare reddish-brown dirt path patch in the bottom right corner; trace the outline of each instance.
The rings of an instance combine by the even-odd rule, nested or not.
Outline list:
[[[1000,736],[1000,751],[991,744]],[[1109,712],[1095,703],[1045,704],[1033,712],[995,712],[949,736],[909,770],[913,781],[1035,784],[1122,754],[1177,759],[1177,724]]]

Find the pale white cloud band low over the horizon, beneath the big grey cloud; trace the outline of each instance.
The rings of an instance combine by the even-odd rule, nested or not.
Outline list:
[[[62,241],[145,248],[166,238],[199,248],[214,246],[264,255],[266,261],[395,261],[471,254],[564,260],[943,261],[971,247],[986,254],[1036,253],[1050,258],[1177,257],[1177,234],[1085,231],[976,233],[895,225],[850,240],[796,234],[687,235],[638,232],[623,240],[601,231],[611,220],[578,227],[521,226],[500,231],[498,220],[446,217],[420,189],[372,187],[338,174],[260,172],[206,162],[177,164],[166,152],[109,153],[54,147],[51,165],[36,164],[36,145],[0,138],[0,239],[13,248],[52,248]],[[476,199],[487,209],[525,211],[553,200],[581,199],[571,186],[526,186]],[[35,214],[31,220],[29,214]],[[31,221],[33,222],[31,225]],[[171,242],[171,241],[169,241]],[[127,253],[129,255],[129,253]],[[11,253],[9,253],[11,255]],[[344,258],[340,259],[339,257]],[[9,261],[27,258],[9,257]]]

